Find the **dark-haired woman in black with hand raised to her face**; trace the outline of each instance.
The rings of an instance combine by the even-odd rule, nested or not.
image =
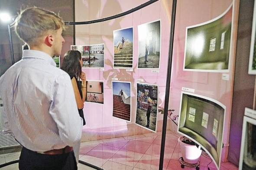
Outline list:
[[[86,98],[86,76],[85,73],[82,72],[82,57],[81,53],[78,50],[69,50],[64,55],[64,59],[62,62],[61,69],[68,73],[70,76],[72,86],[75,93],[75,100],[78,106],[78,113],[80,117],[83,119],[83,124],[85,125],[84,120],[84,101]],[[82,80],[82,83],[78,82],[78,79]],[[74,146],[75,157],[78,163],[79,157],[79,149],[80,149],[80,142],[78,145]]]

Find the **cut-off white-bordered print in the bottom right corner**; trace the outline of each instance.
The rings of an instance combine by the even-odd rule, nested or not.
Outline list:
[[[256,170],[256,120],[243,116],[239,170]]]

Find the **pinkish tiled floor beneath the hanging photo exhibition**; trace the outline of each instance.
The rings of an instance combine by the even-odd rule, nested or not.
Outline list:
[[[133,135],[121,138],[103,139],[91,142],[82,142],[79,160],[96,165],[104,170],[159,170],[159,155],[162,132]],[[0,155],[0,164],[19,159],[20,152]],[[178,135],[167,131],[165,141],[164,170],[183,170],[178,162],[181,157],[178,144]],[[201,156],[200,170],[207,170],[211,162]],[[214,163],[209,165],[216,170]],[[1,170],[17,170],[18,164],[1,168]],[[185,170],[195,168],[185,167]],[[238,170],[230,162],[222,163],[221,170]],[[78,164],[78,170],[92,170]]]

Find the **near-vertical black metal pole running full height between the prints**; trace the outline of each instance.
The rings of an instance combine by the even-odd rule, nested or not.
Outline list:
[[[177,5],[177,0],[173,0],[172,1],[172,20],[171,20],[171,31],[170,31],[169,57],[168,57],[166,88],[165,88],[165,109],[164,109],[164,119],[163,119],[163,127],[162,127],[162,141],[161,141],[159,170],[163,169],[164,154],[165,154],[165,135],[166,135],[166,126],[167,126],[167,115],[168,115],[170,82],[171,82],[171,71],[172,71],[172,52],[173,52],[176,5]]]

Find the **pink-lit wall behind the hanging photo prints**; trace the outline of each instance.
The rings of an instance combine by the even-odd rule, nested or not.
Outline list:
[[[86,0],[75,1],[75,21],[89,21],[101,19],[122,13],[148,0]],[[234,16],[237,15],[237,0],[235,0]],[[169,108],[175,109],[175,114],[179,113],[181,88],[194,88],[196,94],[201,94],[223,103],[226,107],[226,119],[224,125],[224,145],[228,147],[230,113],[232,104],[232,84],[233,84],[233,56],[234,45],[231,44],[230,71],[227,72],[230,79],[222,79],[222,73],[214,72],[188,72],[183,71],[183,58],[185,47],[185,31],[189,25],[195,25],[214,19],[223,13],[232,0],[178,0],[175,42],[172,60],[172,79]],[[105,44],[105,70],[83,69],[87,74],[87,79],[104,81],[104,105],[86,103],[84,107],[87,125],[84,129],[93,129],[107,126],[125,126],[135,123],[136,113],[136,79],[143,79],[146,83],[159,85],[159,106],[164,106],[165,82],[167,72],[167,61],[169,51],[169,33],[171,22],[172,0],[159,0],[150,6],[140,9],[134,13],[113,19],[106,22],[94,23],[90,25],[76,25],[76,45],[83,44]],[[136,69],[138,61],[138,29],[137,25],[161,19],[161,58],[159,73],[152,73],[151,70]],[[236,22],[233,22],[233,39],[236,37]],[[126,72],[125,69],[113,69],[113,30],[133,26],[134,43],[133,72]],[[231,41],[233,40],[231,39]],[[111,79],[118,78],[120,81],[132,83],[132,115],[131,123],[118,120],[112,116],[112,89]],[[162,120],[162,115],[158,115],[158,120]],[[136,127],[136,126],[133,126]],[[161,126],[159,126],[161,128]],[[158,130],[160,130],[158,127]],[[173,127],[173,126],[172,126]],[[111,136],[115,128],[112,128]],[[124,128],[125,129],[125,128]],[[129,128],[128,128],[129,129]],[[173,129],[176,130],[176,129]],[[128,131],[127,129],[125,131]],[[138,130],[143,133],[146,131]],[[227,148],[225,148],[227,149]],[[224,157],[227,150],[224,150]]]

